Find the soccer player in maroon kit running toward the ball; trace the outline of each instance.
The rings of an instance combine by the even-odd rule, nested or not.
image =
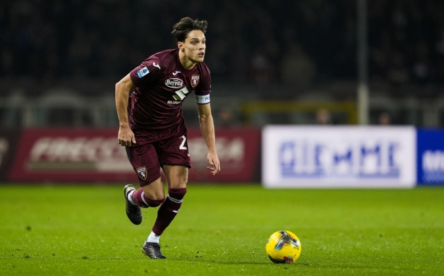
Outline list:
[[[179,212],[187,193],[191,163],[182,102],[190,94],[196,96],[200,131],[208,147],[207,168],[213,175],[221,171],[210,107],[210,70],[203,63],[206,31],[205,20],[180,19],[171,32],[178,49],[151,55],[116,84],[118,141],[126,146],[140,184],[137,190],[130,184],[123,189],[126,214],[138,225],[142,223],[141,207],[160,205],[142,247],[142,253],[152,259],[166,259],[160,252],[160,235]],[[160,168],[168,182],[166,197]]]

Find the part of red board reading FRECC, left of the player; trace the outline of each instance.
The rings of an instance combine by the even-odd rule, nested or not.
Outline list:
[[[22,132],[9,180],[135,181],[115,129],[35,128]]]

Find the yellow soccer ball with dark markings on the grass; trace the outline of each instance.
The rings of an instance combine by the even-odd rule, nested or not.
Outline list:
[[[266,241],[265,250],[273,263],[292,264],[299,258],[302,246],[295,234],[280,230]]]

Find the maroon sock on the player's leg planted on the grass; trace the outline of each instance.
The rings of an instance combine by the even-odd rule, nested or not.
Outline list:
[[[187,188],[168,189],[168,196],[157,211],[157,218],[153,226],[154,234],[160,236],[167,229],[179,212],[185,193],[187,193]]]

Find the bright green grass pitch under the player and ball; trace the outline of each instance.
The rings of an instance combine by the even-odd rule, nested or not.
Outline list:
[[[189,185],[160,242],[157,209],[126,218],[121,186],[0,186],[0,275],[443,275],[444,189],[266,190]],[[145,212],[146,211],[146,212]],[[265,243],[290,230],[295,264]]]

